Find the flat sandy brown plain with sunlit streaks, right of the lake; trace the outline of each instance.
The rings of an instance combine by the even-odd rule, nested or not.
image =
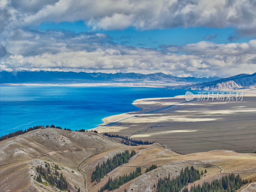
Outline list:
[[[133,105],[141,108],[140,111],[106,117],[105,125],[97,130],[134,139],[156,140],[182,153],[214,149],[240,153],[255,151],[256,90],[222,91],[245,94],[243,100],[237,101],[234,98],[186,101],[184,95],[135,100]]]

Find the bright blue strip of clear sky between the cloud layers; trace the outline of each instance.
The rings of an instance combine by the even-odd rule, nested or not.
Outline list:
[[[80,32],[104,33],[110,36],[113,42],[136,47],[150,47],[161,49],[161,44],[186,45],[199,41],[211,41],[216,44],[242,43],[254,39],[253,36],[239,36],[236,28],[207,28],[207,27],[177,27],[165,29],[138,30],[125,28],[123,30],[92,30],[84,21],[75,22],[44,22],[39,30],[55,29]],[[233,37],[233,39],[229,39]]]

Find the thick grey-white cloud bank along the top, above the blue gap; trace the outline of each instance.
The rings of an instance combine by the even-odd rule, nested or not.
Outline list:
[[[141,30],[232,26],[244,35],[256,35],[256,2],[250,0],[27,1],[11,1],[27,24],[84,20],[94,29]]]

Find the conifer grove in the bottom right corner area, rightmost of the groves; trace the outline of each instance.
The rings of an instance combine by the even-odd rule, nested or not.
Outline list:
[[[191,187],[190,192],[235,192],[243,184],[248,183],[248,180],[242,180],[240,175],[228,174],[220,178],[219,180],[213,180],[211,183],[204,182],[201,186]],[[188,192],[188,188],[184,188],[182,192]]]

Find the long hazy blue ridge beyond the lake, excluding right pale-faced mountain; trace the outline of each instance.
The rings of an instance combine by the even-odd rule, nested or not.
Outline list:
[[[209,82],[220,77],[175,77],[164,73],[86,73],[86,72],[61,72],[61,71],[27,71],[15,69],[5,71],[0,69],[0,83],[104,83],[104,82],[141,82],[159,81],[166,83],[188,84]]]

